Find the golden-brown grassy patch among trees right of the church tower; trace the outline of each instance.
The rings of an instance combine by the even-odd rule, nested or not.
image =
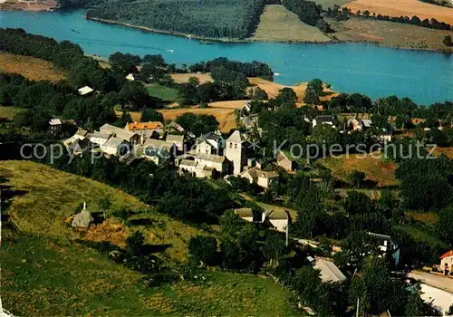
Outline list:
[[[378,156],[374,153],[376,157]],[[362,155],[351,154],[349,158],[342,155],[341,158],[335,159],[328,157],[321,160],[321,164],[332,170],[333,176],[346,180],[352,170],[359,170],[365,173],[365,178],[377,182],[377,186],[394,186],[399,182],[395,178],[394,171],[396,165],[394,163],[383,163],[381,159],[373,159],[371,155],[361,159]]]

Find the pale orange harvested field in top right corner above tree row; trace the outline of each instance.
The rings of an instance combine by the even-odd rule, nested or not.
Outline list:
[[[390,16],[413,16],[417,15],[421,20],[435,18],[440,22],[453,24],[453,8],[440,5],[430,5],[419,0],[354,0],[347,6],[352,12],[368,10],[371,14]]]

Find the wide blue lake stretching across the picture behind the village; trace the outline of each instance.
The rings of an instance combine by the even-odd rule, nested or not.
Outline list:
[[[0,12],[0,26],[69,40],[85,53],[161,53],[166,61],[194,63],[225,56],[268,63],[275,82],[294,84],[320,78],[336,91],[361,92],[372,99],[397,95],[419,104],[453,100],[453,54],[391,49],[365,43],[212,43],[102,24],[83,10]],[[1,41],[1,39],[0,39]]]

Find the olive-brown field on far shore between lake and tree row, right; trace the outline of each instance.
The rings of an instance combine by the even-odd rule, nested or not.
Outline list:
[[[327,19],[336,33],[332,34],[340,41],[361,41],[392,47],[443,50],[453,52],[442,44],[446,34],[453,36],[453,31],[441,31],[410,24],[389,21],[377,21],[352,17],[348,21],[338,22]]]

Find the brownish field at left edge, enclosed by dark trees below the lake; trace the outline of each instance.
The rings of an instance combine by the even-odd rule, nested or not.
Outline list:
[[[66,78],[65,72],[38,58],[0,52],[0,61],[0,72],[20,73],[33,81],[58,82]]]

